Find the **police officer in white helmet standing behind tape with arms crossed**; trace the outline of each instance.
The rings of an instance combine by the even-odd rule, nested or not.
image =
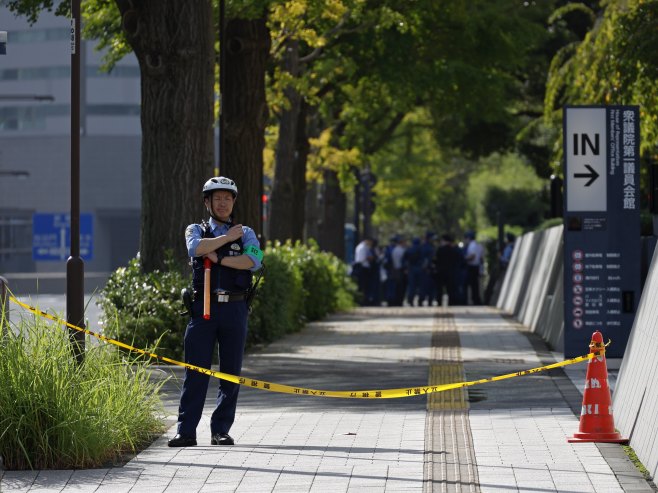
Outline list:
[[[210,368],[215,341],[219,343],[219,371],[239,375],[247,337],[246,303],[252,271],[261,266],[262,252],[254,231],[233,223],[238,196],[235,182],[220,176],[203,186],[203,202],[210,220],[191,224],[185,242],[192,258],[194,301],[185,331],[185,362]],[[210,318],[203,317],[204,258],[212,261]],[[170,447],[196,445],[196,428],[208,391],[209,376],[186,369],[178,408],[178,433]],[[211,445],[233,445],[228,434],[235,419],[238,384],[219,381],[217,406],[210,419]]]

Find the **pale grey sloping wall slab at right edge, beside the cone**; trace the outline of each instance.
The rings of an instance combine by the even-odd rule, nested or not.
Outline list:
[[[658,477],[658,266],[646,278],[613,395],[615,426]]]

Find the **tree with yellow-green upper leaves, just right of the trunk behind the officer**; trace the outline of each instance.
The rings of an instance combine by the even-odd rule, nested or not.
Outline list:
[[[273,2],[270,27],[271,104],[278,122],[271,196],[272,239],[302,239],[305,225],[308,123],[317,111],[318,92],[335,78],[319,63],[333,45],[363,22],[364,0],[289,0]]]

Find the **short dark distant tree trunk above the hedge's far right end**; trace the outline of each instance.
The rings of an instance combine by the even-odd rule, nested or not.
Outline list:
[[[324,172],[323,196],[322,222],[318,242],[322,250],[344,259],[347,202],[345,194],[340,189],[338,174],[335,171]]]

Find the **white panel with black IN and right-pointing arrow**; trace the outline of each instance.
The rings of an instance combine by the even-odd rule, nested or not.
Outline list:
[[[605,108],[565,108],[565,180],[568,211],[607,209]]]

